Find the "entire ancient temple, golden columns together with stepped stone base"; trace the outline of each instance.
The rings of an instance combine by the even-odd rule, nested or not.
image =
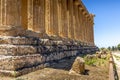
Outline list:
[[[81,0],[0,0],[0,74],[19,76],[97,50]]]

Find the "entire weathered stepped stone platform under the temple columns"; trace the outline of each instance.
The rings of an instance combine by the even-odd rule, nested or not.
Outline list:
[[[79,42],[35,37],[0,37],[0,74],[17,77],[42,69],[54,61],[96,51]]]

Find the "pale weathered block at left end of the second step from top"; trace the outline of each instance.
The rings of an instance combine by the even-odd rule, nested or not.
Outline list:
[[[28,45],[0,45],[0,55],[27,55],[37,53],[36,46]]]

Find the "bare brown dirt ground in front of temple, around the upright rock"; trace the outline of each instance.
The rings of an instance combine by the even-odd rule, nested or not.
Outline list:
[[[11,78],[0,76],[0,80],[108,80],[108,68],[85,65],[84,75],[70,75],[69,70],[75,57],[52,63],[48,68]]]

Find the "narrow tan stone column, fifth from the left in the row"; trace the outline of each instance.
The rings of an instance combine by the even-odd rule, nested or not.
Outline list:
[[[68,2],[68,37],[74,39],[74,25],[73,25],[73,0]]]

